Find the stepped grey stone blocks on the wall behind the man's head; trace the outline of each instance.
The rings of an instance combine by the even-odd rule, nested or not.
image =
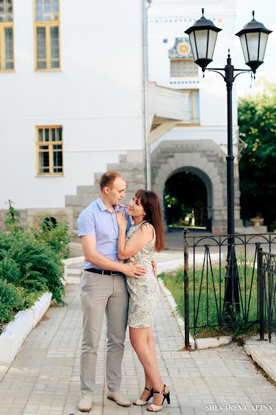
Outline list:
[[[122,203],[127,204],[137,189],[145,187],[144,163],[133,161],[133,154],[128,159],[128,151],[126,154],[119,155],[119,163],[107,163],[106,170],[115,170],[126,180],[126,197]],[[103,172],[94,174],[93,185],[78,185],[77,194],[66,196],[66,208],[72,208],[73,212],[73,234],[74,241],[77,238],[77,219],[80,212],[85,209],[92,201],[95,201],[100,193],[99,180]]]

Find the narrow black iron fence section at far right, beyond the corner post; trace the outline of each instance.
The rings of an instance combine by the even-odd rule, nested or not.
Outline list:
[[[265,327],[268,340],[276,335],[276,255],[259,248],[259,337],[264,340]]]

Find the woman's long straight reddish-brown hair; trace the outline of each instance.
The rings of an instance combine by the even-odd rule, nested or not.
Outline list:
[[[144,220],[155,228],[155,249],[160,252],[165,245],[165,232],[161,213],[161,203],[155,192],[151,190],[137,190],[135,197],[139,199],[146,212]]]

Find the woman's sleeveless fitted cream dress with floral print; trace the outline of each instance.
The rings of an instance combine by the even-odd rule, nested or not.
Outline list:
[[[131,226],[126,235],[126,241],[141,227],[142,223]],[[152,229],[154,230],[153,226]],[[128,293],[130,294],[128,326],[135,327],[136,329],[152,326],[155,308],[159,299],[159,286],[157,278],[153,274],[151,264],[152,257],[155,254],[155,230],[153,233],[152,241],[146,243],[141,250],[127,260],[127,262],[137,261],[146,268],[146,274],[141,275],[139,279],[126,277]]]

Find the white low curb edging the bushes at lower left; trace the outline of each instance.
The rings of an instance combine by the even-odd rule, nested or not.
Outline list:
[[[19,311],[0,335],[0,362],[11,363],[27,335],[50,307],[52,293],[44,293],[30,310]]]

